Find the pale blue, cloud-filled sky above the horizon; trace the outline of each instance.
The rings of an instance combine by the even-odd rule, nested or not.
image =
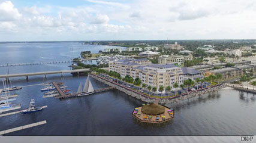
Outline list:
[[[256,39],[255,0],[0,0],[0,41]]]

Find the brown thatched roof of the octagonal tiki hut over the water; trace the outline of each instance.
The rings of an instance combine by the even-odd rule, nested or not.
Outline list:
[[[141,108],[141,111],[143,113],[146,114],[150,114],[150,115],[157,115],[157,114],[162,114],[164,113],[165,107],[163,107],[162,105],[158,105],[158,104],[149,104],[149,105],[144,105]]]

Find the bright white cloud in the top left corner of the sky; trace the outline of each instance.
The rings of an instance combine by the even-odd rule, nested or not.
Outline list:
[[[14,21],[22,17],[17,8],[11,1],[5,1],[0,4],[0,21]]]

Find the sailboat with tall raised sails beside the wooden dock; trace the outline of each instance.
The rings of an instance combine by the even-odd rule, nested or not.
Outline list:
[[[92,87],[92,83],[88,76],[85,82],[85,86],[83,86],[83,91],[82,91],[82,83],[80,83],[79,88],[77,90],[77,96],[85,96],[93,93],[94,93],[94,87]]]

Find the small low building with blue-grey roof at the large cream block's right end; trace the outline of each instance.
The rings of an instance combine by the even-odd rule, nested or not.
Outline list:
[[[197,78],[203,78],[201,71],[192,69],[190,67],[182,67],[181,69],[183,73],[183,80],[191,79],[195,81]]]

